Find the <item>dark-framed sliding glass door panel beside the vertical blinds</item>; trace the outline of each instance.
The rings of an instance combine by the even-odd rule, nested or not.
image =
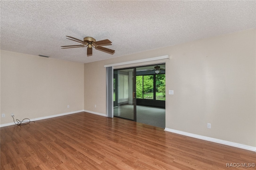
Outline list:
[[[136,121],[136,69],[114,69],[114,117]]]

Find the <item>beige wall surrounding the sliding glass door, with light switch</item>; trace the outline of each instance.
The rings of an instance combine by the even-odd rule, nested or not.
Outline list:
[[[166,128],[255,147],[255,33],[245,30],[86,63],[84,109],[106,114],[104,65],[170,55],[163,60],[166,93],[174,90],[174,95],[166,95]]]

